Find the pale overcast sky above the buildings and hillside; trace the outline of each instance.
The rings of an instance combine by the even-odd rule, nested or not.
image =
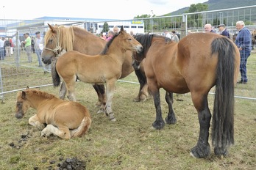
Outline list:
[[[13,0],[1,1],[1,19],[34,19],[43,16],[132,19],[137,15],[164,15],[207,0]]]

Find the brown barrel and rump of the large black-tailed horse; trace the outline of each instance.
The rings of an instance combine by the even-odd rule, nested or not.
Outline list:
[[[147,78],[152,78],[152,82],[157,82],[157,86],[168,92],[197,91],[203,86],[208,87],[204,88],[205,91],[210,90],[216,82],[218,63],[218,53],[212,53],[212,43],[218,38],[227,40],[235,49],[234,62],[239,67],[238,51],[231,40],[218,34],[196,33],[182,38],[178,43],[153,43],[146,56]]]

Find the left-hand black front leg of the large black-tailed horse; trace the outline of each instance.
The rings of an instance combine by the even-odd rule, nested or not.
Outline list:
[[[154,97],[154,107],[156,111],[156,119],[153,123],[153,127],[155,129],[160,130],[165,126],[165,122],[163,121],[163,117],[162,117],[159,89],[153,90],[152,95]]]

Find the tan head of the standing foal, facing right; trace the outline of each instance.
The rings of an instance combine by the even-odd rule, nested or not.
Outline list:
[[[135,40],[135,38],[124,31],[124,27],[121,26],[120,32],[118,33],[117,37],[118,42],[124,47],[126,51],[134,51],[136,53],[141,53],[143,47],[140,42]]]

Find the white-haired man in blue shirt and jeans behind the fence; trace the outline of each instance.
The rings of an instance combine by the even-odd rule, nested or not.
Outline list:
[[[238,30],[238,35],[235,38],[235,45],[238,46],[241,56],[240,73],[241,81],[238,84],[247,84],[248,78],[246,75],[247,59],[251,55],[252,51],[252,37],[249,29],[245,27],[243,21],[236,22],[235,28]]]

